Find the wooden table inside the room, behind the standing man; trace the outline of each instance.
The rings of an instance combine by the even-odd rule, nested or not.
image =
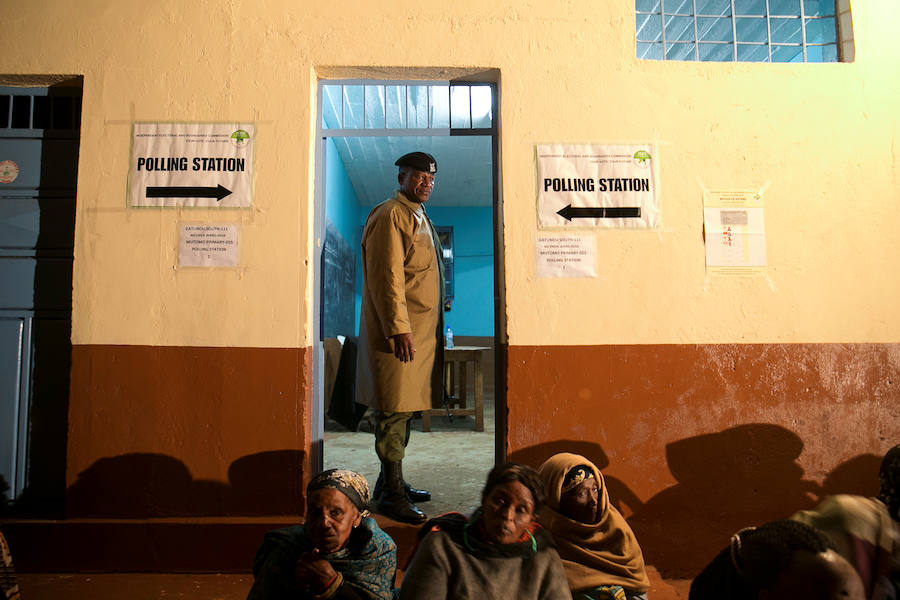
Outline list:
[[[490,350],[485,346],[455,346],[444,348],[444,397],[454,417],[475,417],[475,431],[484,431],[484,373],[481,370],[482,354]],[[472,365],[475,389],[475,406],[466,405],[468,365]],[[422,431],[431,431],[431,417],[446,415],[444,408],[422,411]]]

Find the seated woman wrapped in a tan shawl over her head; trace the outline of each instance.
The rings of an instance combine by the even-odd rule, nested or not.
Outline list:
[[[575,600],[646,599],[641,547],[594,463],[562,453],[538,473],[548,495],[538,521],[553,534]]]

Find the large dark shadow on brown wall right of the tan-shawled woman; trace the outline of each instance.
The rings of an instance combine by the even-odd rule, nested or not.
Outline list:
[[[664,577],[693,577],[736,531],[813,506],[819,486],[795,461],[803,441],[779,425],[748,424],[666,446],[678,481],[629,519],[645,560]]]

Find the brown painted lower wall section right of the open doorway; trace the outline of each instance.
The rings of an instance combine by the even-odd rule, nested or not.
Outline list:
[[[746,525],[877,492],[900,442],[900,345],[511,346],[511,460],[569,451],[665,576]]]

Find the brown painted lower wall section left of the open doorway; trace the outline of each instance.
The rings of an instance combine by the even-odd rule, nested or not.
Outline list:
[[[309,349],[75,346],[67,517],[302,514]]]

